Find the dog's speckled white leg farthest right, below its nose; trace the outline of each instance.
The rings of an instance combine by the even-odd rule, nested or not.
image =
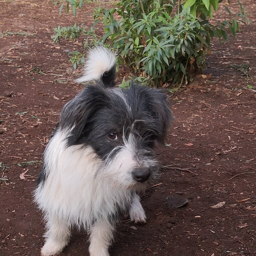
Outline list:
[[[146,214],[142,208],[142,205],[140,203],[140,197],[137,193],[134,193],[131,206],[129,209],[129,215],[131,221],[134,221],[134,223],[146,223]]]

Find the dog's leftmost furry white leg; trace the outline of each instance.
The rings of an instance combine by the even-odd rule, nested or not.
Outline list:
[[[69,227],[56,215],[48,217],[46,227],[46,240],[43,248],[41,249],[41,255],[50,256],[60,253],[69,242]]]

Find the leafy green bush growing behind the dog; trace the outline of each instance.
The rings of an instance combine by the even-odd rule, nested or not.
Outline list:
[[[237,0],[241,12],[232,18],[225,6],[229,19],[212,25],[209,20],[221,1],[120,0],[115,8],[99,6],[94,9],[95,22],[91,29],[79,31],[86,36],[83,49],[99,42],[108,44],[118,51],[119,63],[128,66],[130,72],[139,77],[137,80],[152,86],[181,84],[203,69],[212,38],[228,40],[228,30],[235,37],[240,31],[238,21],[248,21]],[[79,1],[72,2],[78,6]],[[102,38],[95,34],[101,22],[104,25]],[[59,30],[55,30],[55,41],[60,37],[70,37],[71,40],[78,37],[74,26],[63,34]],[[76,52],[74,56],[77,59],[79,54]],[[80,57],[83,56],[81,53]],[[71,61],[74,64],[73,57]]]

